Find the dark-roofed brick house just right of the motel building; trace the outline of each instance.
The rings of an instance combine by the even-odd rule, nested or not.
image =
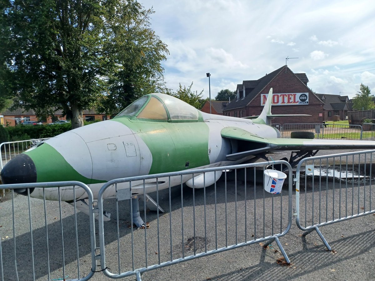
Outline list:
[[[325,103],[323,106],[325,121],[336,121],[338,118],[340,120],[347,119],[348,111],[353,107],[348,96],[318,94],[318,97]]]

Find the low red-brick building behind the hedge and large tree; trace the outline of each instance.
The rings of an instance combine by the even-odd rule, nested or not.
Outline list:
[[[61,109],[56,110],[54,116],[48,117],[47,120],[39,120],[36,117],[35,111],[31,109],[25,110],[22,108],[15,110],[6,109],[1,112],[0,115],[2,116],[2,118],[0,118],[1,124],[5,126],[16,126],[24,121],[41,121],[43,123],[52,123],[56,120],[66,120],[66,116],[63,116],[63,111]],[[93,110],[84,110],[83,118],[86,121],[94,121],[96,119],[107,120],[110,117],[105,114],[97,113]]]

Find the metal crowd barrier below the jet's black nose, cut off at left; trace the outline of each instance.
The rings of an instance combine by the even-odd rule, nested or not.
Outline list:
[[[66,202],[45,200],[48,188],[83,188],[88,205],[93,194],[77,181],[0,185],[10,191],[2,199],[0,215],[0,280],[89,280],[95,273],[94,209],[87,216]],[[30,197],[42,188],[44,199]],[[14,192],[25,189],[27,196]],[[41,219],[44,217],[44,219]],[[89,239],[90,238],[90,239]],[[91,250],[90,250],[91,249]]]

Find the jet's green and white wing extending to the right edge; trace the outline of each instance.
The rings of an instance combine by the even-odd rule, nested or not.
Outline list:
[[[222,129],[221,136],[239,141],[240,152],[226,155],[229,160],[272,150],[375,149],[375,141],[263,138],[236,127]]]

